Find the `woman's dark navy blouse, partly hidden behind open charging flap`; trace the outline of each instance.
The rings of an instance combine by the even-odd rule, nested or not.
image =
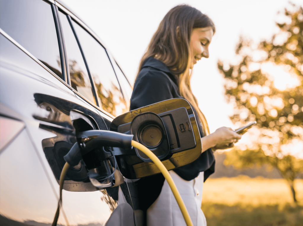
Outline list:
[[[177,85],[177,78],[170,72],[168,67],[161,61],[153,57],[145,60],[142,69],[135,81],[134,90],[131,97],[130,110],[134,110],[143,106],[147,106],[160,101],[183,98],[179,93]],[[197,112],[193,108],[195,115]],[[201,122],[196,117],[199,132],[203,137]],[[204,181],[215,171],[215,158],[211,149],[201,153],[201,156],[194,162],[181,166],[174,170],[181,178],[185,180],[192,180],[198,176],[199,172],[204,171]],[[153,194],[153,197],[146,197],[145,200],[147,209],[158,197],[164,183],[162,174],[150,176],[140,179],[137,182],[138,191],[144,190],[145,194]],[[150,190],[150,192],[148,192]],[[140,195],[140,194],[139,194]],[[145,196],[145,195],[144,195]]]

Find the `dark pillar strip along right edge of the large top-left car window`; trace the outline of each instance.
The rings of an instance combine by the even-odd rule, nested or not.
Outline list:
[[[64,54],[64,47],[63,47],[63,43],[62,43],[60,25],[59,25],[59,21],[58,21],[58,15],[57,15],[57,12],[56,12],[56,6],[54,4],[51,4],[51,6],[52,6],[52,12],[53,12],[54,21],[55,21],[57,38],[58,38],[60,60],[61,60],[61,70],[62,70],[62,80],[67,82],[66,81],[67,72],[66,72],[66,66],[65,66],[65,54]]]

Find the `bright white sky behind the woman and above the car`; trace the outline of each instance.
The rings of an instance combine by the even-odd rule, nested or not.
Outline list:
[[[283,12],[285,7],[290,7],[287,0],[62,2],[101,38],[132,84],[152,35],[171,8],[188,4],[208,15],[214,21],[216,33],[209,46],[210,57],[203,58],[194,66],[191,88],[211,133],[221,126],[237,129],[229,120],[233,108],[225,101],[224,80],[217,68],[218,60],[225,64],[237,62],[235,48],[240,36],[256,44],[271,39],[279,31],[275,22],[285,20],[278,11]],[[303,5],[302,1],[291,2]]]

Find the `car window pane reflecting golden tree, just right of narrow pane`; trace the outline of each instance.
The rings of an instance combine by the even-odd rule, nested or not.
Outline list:
[[[120,86],[105,49],[95,38],[73,21],[91,76],[95,81],[101,107],[118,116],[128,111]]]

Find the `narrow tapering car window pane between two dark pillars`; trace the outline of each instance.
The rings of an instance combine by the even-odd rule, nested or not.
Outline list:
[[[92,92],[92,84],[67,16],[62,12],[59,12],[59,17],[65,39],[71,85],[83,97],[96,104],[95,97]]]

